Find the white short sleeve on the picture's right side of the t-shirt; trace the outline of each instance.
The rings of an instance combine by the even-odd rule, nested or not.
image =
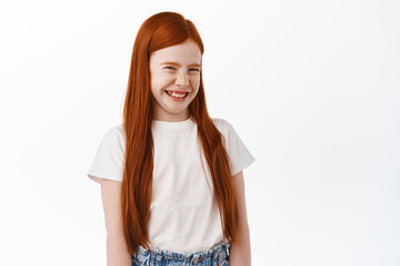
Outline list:
[[[228,152],[228,155],[230,157],[230,170],[231,174],[236,175],[240,171],[248,167],[252,162],[256,161],[256,158],[251,155],[250,151],[247,149],[244,143],[239,137],[238,133],[233,129],[233,126],[228,123],[227,121],[222,120],[224,122],[226,129],[226,149]]]

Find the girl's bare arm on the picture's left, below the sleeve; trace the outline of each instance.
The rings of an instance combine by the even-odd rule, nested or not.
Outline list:
[[[121,182],[101,178],[101,198],[107,229],[107,266],[131,266],[131,254],[123,235]]]

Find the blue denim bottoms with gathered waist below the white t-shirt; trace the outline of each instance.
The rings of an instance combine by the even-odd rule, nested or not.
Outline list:
[[[208,250],[197,253],[174,253],[152,247],[138,246],[132,254],[132,266],[229,266],[229,243],[220,242]]]

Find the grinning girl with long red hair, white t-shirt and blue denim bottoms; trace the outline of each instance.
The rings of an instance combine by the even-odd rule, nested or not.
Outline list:
[[[107,265],[250,265],[242,170],[254,157],[211,119],[203,43],[174,12],[137,34],[123,124],[109,129],[88,176],[101,184]]]

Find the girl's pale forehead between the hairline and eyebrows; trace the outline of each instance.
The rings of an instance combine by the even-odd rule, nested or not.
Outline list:
[[[164,61],[178,62],[181,64],[191,64],[201,62],[201,52],[199,45],[192,40],[157,50],[150,54],[151,63],[162,63]]]

